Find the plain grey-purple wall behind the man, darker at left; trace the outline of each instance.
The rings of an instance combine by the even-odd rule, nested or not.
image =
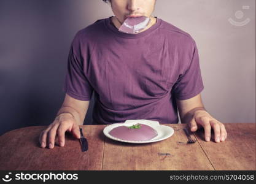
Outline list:
[[[52,123],[74,35],[111,15],[101,0],[0,0],[0,134]],[[223,123],[255,122],[255,1],[158,0],[153,15],[196,40],[206,109]]]

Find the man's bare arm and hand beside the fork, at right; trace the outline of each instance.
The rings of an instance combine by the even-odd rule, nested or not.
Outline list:
[[[190,131],[196,131],[198,128],[204,128],[206,141],[210,141],[211,128],[214,129],[215,142],[227,139],[227,131],[223,123],[213,118],[204,108],[201,94],[186,100],[176,99],[179,110],[180,121],[187,123]]]

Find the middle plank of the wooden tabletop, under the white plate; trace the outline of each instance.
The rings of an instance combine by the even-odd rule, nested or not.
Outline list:
[[[166,126],[174,134],[160,142],[128,144],[106,138],[103,170],[213,170],[198,142],[187,144],[185,125]]]

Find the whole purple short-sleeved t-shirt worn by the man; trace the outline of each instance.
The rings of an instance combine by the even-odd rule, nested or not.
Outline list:
[[[160,18],[138,34],[118,31],[111,17],[97,20],[72,41],[64,91],[81,101],[95,92],[94,123],[178,123],[176,98],[203,88],[195,40]]]

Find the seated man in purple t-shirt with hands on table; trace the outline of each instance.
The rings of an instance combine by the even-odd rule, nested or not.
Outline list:
[[[105,1],[106,2],[106,1]],[[112,0],[115,16],[98,20],[78,31],[71,44],[64,91],[55,120],[40,136],[41,147],[64,146],[64,133],[80,138],[79,125],[95,91],[93,121],[122,123],[128,119],[182,123],[190,131],[204,129],[206,141],[227,138],[223,123],[204,109],[195,40],[176,26],[152,17],[156,0]],[[139,33],[118,31],[128,17],[147,16],[150,23]]]

